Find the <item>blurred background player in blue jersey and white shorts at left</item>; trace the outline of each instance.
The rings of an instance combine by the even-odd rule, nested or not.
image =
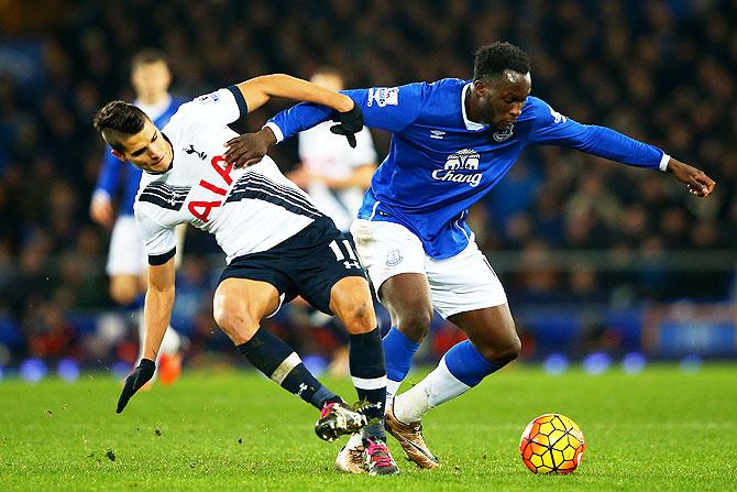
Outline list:
[[[141,108],[157,128],[168,123],[184,99],[168,92],[172,73],[166,55],[157,50],[143,50],[131,61],[131,85],[135,90],[135,106]],[[110,297],[119,305],[133,309],[139,320],[140,350],[143,350],[142,300],[146,291],[146,254],[133,217],[133,203],[141,182],[141,170],[123,164],[105,150],[97,185],[90,204],[92,219],[107,228],[112,227],[106,271],[110,277]],[[114,200],[120,194],[116,216]],[[177,265],[182,258],[185,226],[177,229],[179,248]],[[163,384],[170,384],[182,371],[182,337],[168,329],[158,359],[158,376]],[[141,353],[139,353],[139,359]]]

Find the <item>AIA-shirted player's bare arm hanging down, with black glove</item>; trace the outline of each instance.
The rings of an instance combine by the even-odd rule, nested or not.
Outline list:
[[[174,258],[162,265],[148,266],[148,289],[143,307],[146,327],[143,339],[143,358],[125,380],[125,385],[118,400],[117,413],[121,413],[135,392],[154,376],[156,369],[154,361],[162,346],[174,306]]]

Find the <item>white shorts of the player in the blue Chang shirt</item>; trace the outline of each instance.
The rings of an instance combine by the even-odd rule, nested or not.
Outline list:
[[[473,239],[454,256],[436,260],[398,223],[356,219],[351,233],[377,292],[394,275],[421,273],[430,284],[432,306],[443,318],[507,303],[502,282]]]

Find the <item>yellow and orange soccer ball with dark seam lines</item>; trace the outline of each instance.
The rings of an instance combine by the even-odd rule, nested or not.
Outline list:
[[[527,424],[519,440],[522,462],[532,473],[570,473],[585,447],[581,428],[560,414],[540,415]]]

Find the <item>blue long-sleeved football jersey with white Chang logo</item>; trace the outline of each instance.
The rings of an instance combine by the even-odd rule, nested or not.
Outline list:
[[[465,223],[469,207],[504,177],[530,143],[578,149],[638,167],[664,171],[668,164],[660,149],[578,123],[536,97],[527,98],[520,117],[503,131],[470,121],[464,106],[470,89],[471,81],[442,79],[343,91],[359,105],[367,127],[393,133],[359,217],[402,223],[435,259],[466,247],[472,238]],[[267,125],[282,140],[331,114],[329,108],[300,103]]]

